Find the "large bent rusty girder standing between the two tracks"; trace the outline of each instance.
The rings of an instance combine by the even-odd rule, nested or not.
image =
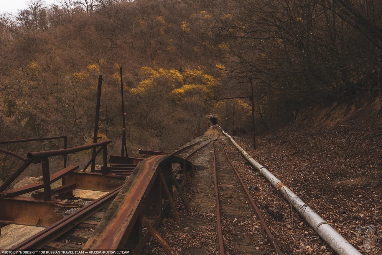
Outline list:
[[[137,224],[142,226],[139,214],[148,218],[160,216],[162,196],[166,195],[164,185],[172,196],[172,163],[183,164],[185,161],[173,155],[156,155],[140,162],[83,249],[134,249],[138,244],[141,245],[139,240],[142,240],[142,232],[136,227]],[[185,165],[192,166],[189,161]],[[159,177],[160,172],[165,184]],[[172,199],[168,200],[172,202]]]

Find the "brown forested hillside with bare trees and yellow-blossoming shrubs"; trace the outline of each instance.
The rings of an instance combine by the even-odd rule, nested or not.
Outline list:
[[[249,77],[256,132],[277,128],[306,106],[379,96],[381,23],[377,0],[31,0],[0,14],[0,137],[90,143],[103,75],[100,132],[119,149],[120,67],[131,151],[201,135],[206,114],[230,113],[234,103],[204,101],[249,95]],[[235,100],[236,126],[248,133],[249,106]],[[220,119],[226,130],[232,121]]]

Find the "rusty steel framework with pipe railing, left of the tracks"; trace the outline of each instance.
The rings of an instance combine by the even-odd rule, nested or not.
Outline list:
[[[29,141],[34,140],[42,140],[42,138],[29,139]],[[125,165],[120,167],[119,164],[108,165],[107,145],[111,142],[112,140],[105,140],[74,148],[28,153],[24,163],[0,187],[0,227],[7,224],[48,227],[63,219],[65,216],[64,212],[68,209],[78,208],[79,205],[69,203],[70,200],[76,199],[73,196],[73,190],[95,190],[110,193],[116,188],[121,187],[125,183],[126,177],[131,174],[132,169],[136,166],[134,163],[143,159],[110,155],[109,160],[111,161],[133,164],[129,164],[129,167],[125,167]],[[79,166],[70,165],[50,174],[50,157],[66,156],[67,154],[97,147],[100,148],[98,152],[103,152],[104,159],[103,166],[99,172],[77,171]],[[89,166],[92,159],[87,166]],[[5,191],[30,164],[41,164],[42,180],[24,187]],[[114,174],[115,172],[118,174]],[[62,185],[51,188],[52,183],[58,180],[62,180]],[[40,189],[43,189],[43,191],[39,191]],[[31,193],[31,197],[23,196],[29,193]]]

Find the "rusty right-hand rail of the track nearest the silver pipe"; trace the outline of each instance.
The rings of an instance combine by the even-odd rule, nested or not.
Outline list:
[[[269,240],[269,243],[270,245],[272,246],[273,249],[276,250],[277,252],[277,255],[283,255],[284,253],[282,252],[282,250],[280,249],[280,247],[278,246],[277,242],[275,241],[275,237],[273,236],[273,234],[270,232],[268,226],[267,226],[267,223],[265,223],[265,220],[264,218],[262,217],[261,215],[261,212],[259,210],[259,208],[257,207],[255,201],[253,200],[251,194],[249,193],[247,187],[245,186],[244,182],[243,182],[243,179],[241,179],[240,177],[240,174],[239,172],[237,171],[236,167],[233,166],[232,162],[231,162],[231,159],[230,157],[228,156],[228,153],[225,149],[225,146],[224,146],[224,143],[223,141],[220,139],[220,135],[219,135],[219,141],[220,143],[222,143],[222,146],[223,146],[223,150],[224,150],[224,153],[225,153],[225,156],[227,156],[227,159],[228,159],[228,162],[230,163],[233,171],[235,171],[235,174],[239,180],[239,183],[240,183],[240,187],[241,189],[243,190],[243,192],[245,193],[247,199],[248,199],[248,202],[249,204],[252,206],[252,209],[253,211],[255,212],[256,214],[256,218],[257,220],[260,222],[260,226],[261,226],[261,229],[264,231],[265,235],[267,236],[267,239]]]

